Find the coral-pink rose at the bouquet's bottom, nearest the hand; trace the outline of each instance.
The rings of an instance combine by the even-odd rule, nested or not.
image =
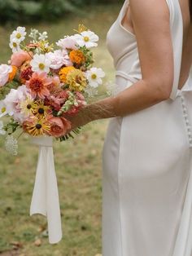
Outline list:
[[[50,117],[50,135],[55,138],[66,135],[67,131],[71,129],[71,122],[64,117]]]

